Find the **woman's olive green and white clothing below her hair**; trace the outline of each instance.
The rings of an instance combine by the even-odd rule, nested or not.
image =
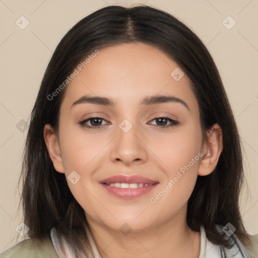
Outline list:
[[[221,228],[219,229],[221,230]],[[95,245],[93,237],[90,231],[87,231],[87,235],[89,237],[91,247],[94,253],[95,258],[101,257],[98,249]],[[227,256],[225,257],[250,257],[250,258],[258,258],[258,234],[251,236],[252,244],[250,248],[244,248],[237,237],[233,234],[232,241],[236,241],[234,246],[231,249],[225,248],[225,253]],[[64,241],[64,246],[66,246],[64,253],[60,251],[60,242]],[[239,247],[238,247],[239,245]],[[248,254],[247,254],[247,252]],[[242,252],[242,253],[241,253]],[[69,256],[61,256],[61,255],[69,255]],[[52,228],[50,231],[50,236],[44,238],[43,240],[35,240],[35,239],[27,239],[24,240],[17,245],[11,247],[5,252],[0,254],[0,258],[63,258],[69,257],[73,258],[74,253],[70,248],[69,244],[63,239],[57,238],[55,234],[55,229]],[[99,256],[95,256],[99,255]],[[83,256],[81,256],[83,258]],[[214,245],[206,238],[205,229],[201,227],[201,245],[200,245],[200,255],[199,258],[221,258],[221,250],[219,245]]]

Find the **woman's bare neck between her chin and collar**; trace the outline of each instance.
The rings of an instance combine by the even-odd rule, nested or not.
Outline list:
[[[192,231],[182,219],[172,218],[127,235],[100,225],[88,216],[87,221],[101,258],[198,258],[200,254],[200,232]]]

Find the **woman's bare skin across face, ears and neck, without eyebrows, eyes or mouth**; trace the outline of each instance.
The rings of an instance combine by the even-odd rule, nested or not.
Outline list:
[[[222,132],[214,124],[203,142],[197,99],[185,73],[179,81],[170,76],[175,68],[178,64],[164,52],[144,43],[100,49],[67,87],[58,132],[45,125],[44,139],[56,171],[66,176],[76,171],[81,176],[76,184],[69,180],[68,184],[85,210],[102,258],[199,257],[200,232],[187,226],[187,201],[198,174],[208,175],[216,167]],[[111,98],[115,105],[72,107],[86,94]],[[144,97],[156,95],[179,98],[189,110],[177,102],[141,104]],[[79,124],[93,115],[106,119],[100,121],[102,127],[90,130]],[[161,128],[158,116],[178,124]],[[119,127],[124,119],[133,125],[127,133]],[[89,120],[86,123],[93,126]],[[152,204],[150,199],[198,153],[202,158]],[[159,185],[144,196],[123,200],[99,183],[118,174],[145,176]],[[119,230],[124,223],[132,229],[127,235]]]

